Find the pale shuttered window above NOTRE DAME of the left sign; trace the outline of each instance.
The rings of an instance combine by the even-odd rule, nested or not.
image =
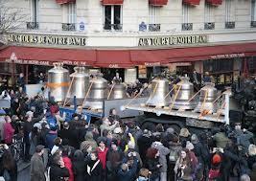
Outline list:
[[[75,31],[76,30],[76,3],[64,4],[64,23],[62,23],[63,31]]]

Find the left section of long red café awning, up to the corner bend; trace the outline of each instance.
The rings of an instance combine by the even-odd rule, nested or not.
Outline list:
[[[53,49],[35,47],[8,47],[0,52],[0,59],[11,61],[12,53],[17,57],[15,63],[51,65],[61,61],[71,65],[93,65],[96,61],[94,50]]]

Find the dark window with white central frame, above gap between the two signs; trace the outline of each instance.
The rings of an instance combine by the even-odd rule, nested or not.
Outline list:
[[[122,6],[112,5],[104,6],[104,30],[121,31],[122,30]]]

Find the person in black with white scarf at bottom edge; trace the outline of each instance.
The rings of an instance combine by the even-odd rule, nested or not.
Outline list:
[[[92,152],[90,155],[90,160],[86,166],[86,170],[87,170],[86,180],[89,180],[89,181],[105,180],[103,165],[97,155],[98,155],[97,152]]]

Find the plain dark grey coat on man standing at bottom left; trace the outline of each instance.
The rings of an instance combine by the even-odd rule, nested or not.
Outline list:
[[[35,153],[31,158],[31,181],[45,181],[42,157]]]

